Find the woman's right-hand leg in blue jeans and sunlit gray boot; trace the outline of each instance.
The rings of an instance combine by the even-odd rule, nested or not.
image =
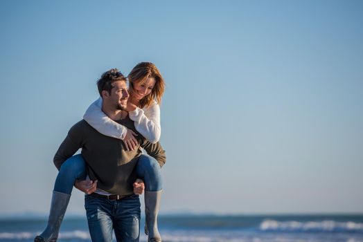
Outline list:
[[[157,228],[161,192],[163,188],[160,165],[151,156],[141,155],[136,165],[136,174],[145,183],[145,233],[148,241],[161,241]]]

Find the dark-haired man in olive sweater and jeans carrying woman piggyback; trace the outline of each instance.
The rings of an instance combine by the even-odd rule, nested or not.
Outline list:
[[[103,73],[97,85],[103,98],[103,112],[136,132],[134,122],[124,110],[129,97],[125,77],[117,69],[111,69]],[[127,151],[123,141],[103,136],[81,120],[70,129],[55,154],[54,163],[60,169],[67,158],[82,148],[89,181],[77,182],[76,187],[87,193],[85,208],[92,241],[112,241],[113,229],[117,241],[139,241],[140,201],[132,187],[136,180],[134,166],[141,155],[139,147],[161,165],[166,156],[159,143],[152,144],[141,135],[137,137],[137,149]]]

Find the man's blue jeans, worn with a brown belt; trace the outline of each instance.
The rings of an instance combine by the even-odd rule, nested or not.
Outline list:
[[[112,241],[112,230],[115,230],[117,241],[139,241],[140,200],[138,195],[128,196],[119,201],[86,195],[85,209],[93,242]]]

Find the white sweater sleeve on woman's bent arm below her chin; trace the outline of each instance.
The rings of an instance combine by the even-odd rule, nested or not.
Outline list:
[[[141,133],[143,137],[152,143],[156,143],[160,139],[160,106],[154,102],[144,109],[136,108],[129,112],[130,119],[134,121],[135,129]]]

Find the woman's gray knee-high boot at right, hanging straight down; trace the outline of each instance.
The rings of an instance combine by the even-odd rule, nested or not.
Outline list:
[[[161,236],[157,229],[157,214],[159,213],[162,191],[145,191],[145,233],[148,234],[148,242],[161,242]]]

